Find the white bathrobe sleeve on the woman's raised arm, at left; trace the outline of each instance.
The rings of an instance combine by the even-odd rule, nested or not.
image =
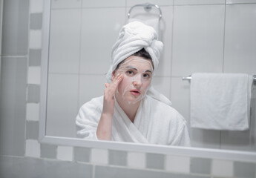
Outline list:
[[[83,139],[97,139],[96,130],[102,113],[103,96],[91,99],[79,109],[76,116],[76,136]]]

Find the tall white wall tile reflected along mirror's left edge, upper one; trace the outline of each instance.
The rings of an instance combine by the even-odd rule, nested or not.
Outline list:
[[[49,71],[78,73],[81,10],[52,10],[50,22]]]

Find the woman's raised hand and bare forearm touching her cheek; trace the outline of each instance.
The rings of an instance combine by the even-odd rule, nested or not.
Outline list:
[[[122,81],[122,74],[117,74],[113,81],[105,84],[102,115],[99,119],[96,136],[98,139],[111,140],[112,117],[114,115],[114,94],[119,83]]]

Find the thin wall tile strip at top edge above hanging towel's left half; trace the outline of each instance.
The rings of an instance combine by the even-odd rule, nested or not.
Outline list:
[[[225,4],[225,0],[174,0],[174,5]]]

